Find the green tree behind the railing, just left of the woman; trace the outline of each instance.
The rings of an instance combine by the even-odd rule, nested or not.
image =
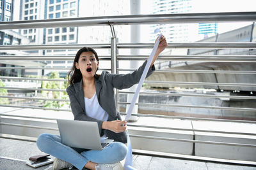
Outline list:
[[[52,72],[48,77],[49,79],[63,79],[60,78],[58,72]],[[67,83],[65,81],[42,81],[42,89],[67,89]],[[67,92],[54,92],[54,91],[42,91],[42,96],[49,99],[68,99]],[[61,101],[43,101],[45,108],[61,108],[65,102]]]

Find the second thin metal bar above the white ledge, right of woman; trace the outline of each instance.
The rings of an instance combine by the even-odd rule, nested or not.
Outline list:
[[[121,94],[134,94],[134,92],[120,91]],[[229,98],[229,99],[252,99],[255,100],[256,96],[226,96],[226,95],[215,95],[215,94],[176,94],[176,93],[161,93],[161,92],[140,92],[140,94],[148,94],[150,96],[185,96],[185,97],[213,97],[213,98]]]

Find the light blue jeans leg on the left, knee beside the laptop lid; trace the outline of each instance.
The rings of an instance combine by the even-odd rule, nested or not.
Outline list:
[[[83,169],[84,165],[88,162],[88,159],[76,152],[76,150],[63,145],[59,135],[41,134],[36,141],[36,145],[42,152],[65,160],[73,166],[76,166],[77,169]]]

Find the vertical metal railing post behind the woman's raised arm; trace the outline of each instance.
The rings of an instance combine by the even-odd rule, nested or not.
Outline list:
[[[112,37],[111,38],[111,73],[112,74],[116,74],[116,68],[117,68],[117,59],[116,59],[116,52],[117,52],[117,48],[116,48],[116,38]],[[119,104],[118,104],[118,92],[117,89],[114,90],[115,92],[115,98],[116,98],[116,108],[119,111]]]

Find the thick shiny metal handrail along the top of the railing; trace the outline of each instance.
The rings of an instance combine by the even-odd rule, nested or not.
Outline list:
[[[1,29],[28,29],[45,27],[78,27],[100,25],[177,24],[198,22],[255,22],[255,12],[177,13],[161,15],[121,15],[106,17],[60,18],[1,22]]]

